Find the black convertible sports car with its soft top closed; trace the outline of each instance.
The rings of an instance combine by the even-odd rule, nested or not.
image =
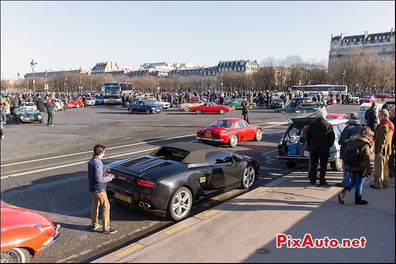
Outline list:
[[[257,160],[198,143],[174,143],[148,156],[110,163],[107,196],[119,204],[184,218],[193,202],[242,186],[259,173]]]

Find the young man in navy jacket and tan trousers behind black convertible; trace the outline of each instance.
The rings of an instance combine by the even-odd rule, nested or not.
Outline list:
[[[110,228],[110,204],[106,194],[106,182],[114,179],[113,174],[104,172],[102,158],[106,147],[96,145],[94,147],[94,155],[88,163],[88,184],[92,193],[91,208],[91,229],[97,230],[102,227],[103,234],[114,234],[116,229]],[[99,224],[99,205],[102,207],[102,224]]]

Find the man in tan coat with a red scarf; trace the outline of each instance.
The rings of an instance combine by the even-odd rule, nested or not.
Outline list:
[[[394,124],[389,120],[386,109],[378,112],[380,123],[374,131],[374,182],[370,187],[375,189],[389,188],[389,156],[392,154],[392,137]]]

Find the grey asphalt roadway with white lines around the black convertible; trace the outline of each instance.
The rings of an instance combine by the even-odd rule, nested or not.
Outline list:
[[[349,113],[357,108],[358,105],[332,106],[329,112]],[[87,162],[96,144],[107,147],[103,160],[107,164],[149,154],[171,142],[195,141],[198,129],[222,117],[241,117],[241,110],[224,115],[197,115],[168,109],[159,114],[131,115],[120,106],[92,106],[56,112],[53,127],[8,121],[6,139],[1,141],[1,201],[39,211],[54,224],[61,225],[56,243],[32,262],[86,261],[137,236],[172,224],[168,219],[132,211],[110,200],[110,226],[118,232],[103,235],[90,229]],[[290,173],[291,169],[276,158],[277,143],[288,125],[284,115],[272,109],[256,108],[250,111],[249,119],[251,124],[263,128],[261,142],[239,143],[232,151],[258,159],[259,181],[264,183]],[[298,165],[293,170],[304,169],[306,166]],[[191,214],[241,192],[243,190],[229,191],[194,204]]]

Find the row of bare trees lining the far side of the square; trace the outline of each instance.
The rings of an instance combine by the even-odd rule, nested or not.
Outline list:
[[[171,90],[213,90],[221,88],[223,83],[224,89],[241,90],[284,90],[294,85],[315,85],[315,84],[346,84],[348,87],[355,89],[356,84],[360,91],[367,92],[378,90],[379,92],[390,91],[395,87],[395,64],[392,61],[377,61],[375,58],[366,57],[347,57],[340,60],[336,65],[328,69],[326,60],[322,61],[304,61],[298,55],[288,56],[285,59],[275,59],[267,57],[260,63],[260,69],[251,74],[243,72],[227,71],[223,72],[222,77],[217,76],[174,76],[174,77],[154,77],[151,75],[140,77],[128,77],[123,75],[113,76],[111,74],[93,75],[92,79],[88,74],[81,76],[83,90],[92,89],[100,91],[105,82],[123,81],[133,84],[134,89],[138,91],[161,91]],[[345,74],[343,74],[345,72]],[[80,74],[69,73],[58,75],[47,79],[49,91],[78,91],[80,85]],[[44,78],[35,77],[36,89],[43,90],[45,87]],[[1,89],[10,87],[10,83],[1,80]],[[21,87],[25,90],[29,86],[32,90],[32,79],[20,80],[19,83],[14,81],[14,90]],[[386,89],[384,89],[386,88]]]

